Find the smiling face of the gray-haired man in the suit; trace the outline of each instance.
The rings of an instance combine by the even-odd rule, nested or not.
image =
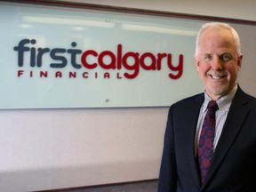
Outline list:
[[[195,64],[205,91],[212,100],[218,100],[234,88],[242,58],[243,55],[236,52],[228,29],[208,28],[203,32]]]

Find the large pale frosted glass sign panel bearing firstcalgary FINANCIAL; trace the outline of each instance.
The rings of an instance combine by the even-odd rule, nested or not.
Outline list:
[[[202,92],[202,22],[1,4],[0,108],[165,107]]]

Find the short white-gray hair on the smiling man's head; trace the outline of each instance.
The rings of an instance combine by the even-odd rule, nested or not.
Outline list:
[[[231,35],[233,36],[235,46],[236,46],[236,53],[241,54],[240,38],[239,38],[239,36],[236,32],[236,29],[232,28],[230,25],[228,25],[228,23],[210,22],[210,23],[205,23],[197,33],[197,36],[196,36],[196,55],[199,52],[200,37],[207,28],[227,28],[231,32]]]

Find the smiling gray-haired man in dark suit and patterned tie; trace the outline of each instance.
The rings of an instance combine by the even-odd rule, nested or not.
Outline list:
[[[195,55],[204,93],[169,110],[158,192],[256,191],[256,99],[236,84],[242,59],[234,28],[204,24]]]

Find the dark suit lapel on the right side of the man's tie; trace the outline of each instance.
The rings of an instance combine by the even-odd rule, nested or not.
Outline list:
[[[220,140],[215,149],[214,156],[212,159],[212,166],[204,180],[202,189],[207,185],[207,182],[211,180],[214,172],[218,170],[221,161],[228,152],[228,149],[232,146],[236,135],[242,127],[246,116],[249,113],[249,109],[244,107],[244,103],[248,100],[243,96],[244,92],[238,88],[236,96],[230,106],[226,123],[224,124],[221,132]]]

